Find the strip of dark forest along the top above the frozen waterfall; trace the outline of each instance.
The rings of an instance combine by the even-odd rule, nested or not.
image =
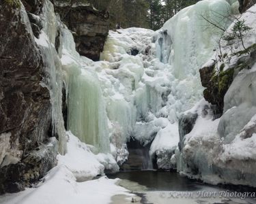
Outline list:
[[[184,7],[200,0],[67,0],[90,3],[110,14],[110,28],[143,27],[158,30]]]

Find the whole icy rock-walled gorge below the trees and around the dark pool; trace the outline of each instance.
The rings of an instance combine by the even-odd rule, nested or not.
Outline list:
[[[132,199],[104,177],[120,170],[254,190],[254,3],[203,0],[159,31],[109,31],[85,3],[1,1],[0,203]]]

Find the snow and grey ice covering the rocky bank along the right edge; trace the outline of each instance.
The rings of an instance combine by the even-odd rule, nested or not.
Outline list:
[[[240,18],[253,29],[255,11],[256,5]],[[231,24],[231,27],[233,25]],[[244,44],[255,44],[255,32],[245,35]],[[236,51],[240,50],[242,48],[237,46]],[[224,51],[225,48],[223,53]],[[240,58],[231,56],[229,61],[225,61],[225,65],[234,69],[232,66],[236,65]],[[253,58],[253,55],[248,56],[247,60],[250,58]],[[193,130],[184,137],[183,148],[175,152],[180,173],[211,184],[228,183],[255,187],[256,63],[251,60],[249,62],[252,64],[251,69],[242,69],[234,75],[225,95],[224,114],[221,118],[214,120],[210,112],[202,114],[201,107],[195,107],[190,111],[196,111],[199,116]]]

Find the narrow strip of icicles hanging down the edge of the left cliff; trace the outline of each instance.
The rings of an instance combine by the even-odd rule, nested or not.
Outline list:
[[[47,77],[43,79],[42,86],[46,86],[51,95],[51,112],[53,135],[57,134],[59,138],[59,153],[66,153],[66,130],[62,115],[62,86],[63,74],[61,70],[61,61],[55,49],[55,38],[59,22],[54,13],[53,4],[45,2],[42,10],[43,29],[40,39],[35,38],[42,55],[44,56],[44,65],[46,66]]]

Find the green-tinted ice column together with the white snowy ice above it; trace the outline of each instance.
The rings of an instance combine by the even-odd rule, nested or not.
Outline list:
[[[61,63],[68,93],[68,130],[81,141],[95,146],[96,152],[109,152],[109,129],[100,82],[96,73],[88,69],[92,61],[76,52],[68,29],[61,29],[61,37]]]

